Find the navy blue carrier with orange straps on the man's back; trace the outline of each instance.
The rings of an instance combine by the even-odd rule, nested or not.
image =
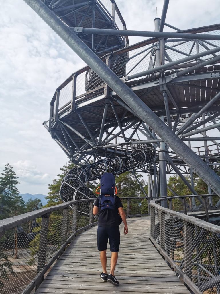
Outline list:
[[[100,181],[99,209],[115,209],[115,177],[112,173],[104,173]],[[97,188],[98,190],[98,188]]]

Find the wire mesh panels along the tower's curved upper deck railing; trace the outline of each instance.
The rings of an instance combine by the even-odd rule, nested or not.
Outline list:
[[[112,18],[112,3],[109,0],[99,1],[103,4],[104,9],[109,14],[109,17]],[[115,21],[119,29],[123,29],[123,24],[117,12],[115,11]],[[203,34],[220,34],[220,30],[208,31]],[[196,34],[195,34],[196,36]],[[173,38],[168,38],[165,42],[165,64],[172,61],[177,61],[186,56],[194,55],[213,49],[217,46],[220,46],[220,41],[211,40],[183,40],[178,41]],[[152,69],[156,65],[156,51],[160,49],[160,44],[158,42],[153,44],[145,45],[140,44],[138,48],[129,48],[127,52],[119,53],[114,52],[112,55],[112,71],[119,77],[123,78],[124,76],[132,76],[138,74],[147,69]],[[207,59],[211,59],[214,56],[219,55],[219,53],[209,54],[200,59],[194,59],[189,62],[202,62]],[[104,61],[105,62],[105,61]],[[186,67],[186,66],[185,66]],[[185,68],[184,67],[184,68]],[[154,75],[154,74],[151,74]],[[86,96],[87,93],[92,93],[92,90],[97,91],[100,87],[104,86],[104,81],[99,78],[99,76],[92,70],[85,68],[85,71],[80,70],[79,74],[77,73],[76,89],[75,96],[76,100]],[[72,98],[72,80],[62,86],[60,89],[59,96],[59,110],[63,109],[65,105],[70,106]],[[210,97],[209,97],[210,98]],[[54,103],[54,111],[56,109],[56,99]],[[53,114],[52,114],[53,116]]]

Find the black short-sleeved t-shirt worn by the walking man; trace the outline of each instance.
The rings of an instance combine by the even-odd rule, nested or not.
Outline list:
[[[94,206],[99,207],[99,198],[95,200]],[[115,196],[115,209],[99,209],[99,227],[118,227],[119,207],[123,207],[121,199]]]

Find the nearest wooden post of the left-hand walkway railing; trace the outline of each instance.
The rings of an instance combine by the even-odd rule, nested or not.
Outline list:
[[[41,221],[40,242],[39,242],[39,250],[38,250],[37,274],[40,273],[40,271],[45,266],[49,217],[50,217],[50,213],[46,213],[41,216],[42,221]],[[43,282],[43,279],[44,279],[44,276],[42,276],[41,280],[36,285],[35,291],[37,290],[39,285]]]

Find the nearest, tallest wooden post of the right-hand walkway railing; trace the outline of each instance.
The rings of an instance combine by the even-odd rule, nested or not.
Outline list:
[[[184,273],[192,279],[193,225],[184,223]]]

